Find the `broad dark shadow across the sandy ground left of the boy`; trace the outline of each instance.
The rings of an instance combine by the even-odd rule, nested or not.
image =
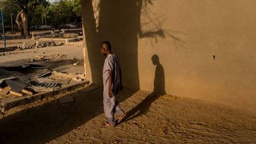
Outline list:
[[[82,89],[72,94],[75,103],[60,104],[56,99],[5,117],[0,120],[0,143],[46,143],[76,129],[104,113],[102,91]]]

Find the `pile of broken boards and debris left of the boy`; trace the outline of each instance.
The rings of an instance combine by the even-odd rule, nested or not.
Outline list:
[[[71,81],[77,83],[87,79],[82,74],[49,71],[41,65],[4,67],[0,68],[0,98],[27,97],[38,92],[55,91]]]

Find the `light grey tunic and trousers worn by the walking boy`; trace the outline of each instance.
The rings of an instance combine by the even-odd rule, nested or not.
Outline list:
[[[110,98],[108,95],[108,76],[109,71],[112,71],[112,91],[114,97]],[[115,55],[108,55],[105,58],[104,67],[103,67],[103,105],[104,105],[104,113],[108,118],[113,118],[115,111],[120,110],[119,103],[116,101],[116,95],[120,91],[121,87],[121,69],[119,65],[119,60]]]

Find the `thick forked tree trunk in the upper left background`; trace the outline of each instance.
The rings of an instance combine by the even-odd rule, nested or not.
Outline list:
[[[29,33],[29,25],[30,25],[30,15],[28,11],[31,11],[33,14],[36,8],[46,2],[46,0],[12,0],[15,2],[20,8],[21,11],[18,12],[16,23],[18,26],[20,25],[21,34],[24,34],[27,38],[30,36]],[[21,21],[20,21],[21,18]]]

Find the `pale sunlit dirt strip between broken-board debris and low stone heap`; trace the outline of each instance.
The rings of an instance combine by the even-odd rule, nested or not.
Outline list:
[[[46,56],[42,62],[31,62],[34,56]],[[84,73],[82,46],[55,46],[5,52],[0,56],[0,66],[37,63],[59,72]],[[79,62],[78,65],[73,63]]]

